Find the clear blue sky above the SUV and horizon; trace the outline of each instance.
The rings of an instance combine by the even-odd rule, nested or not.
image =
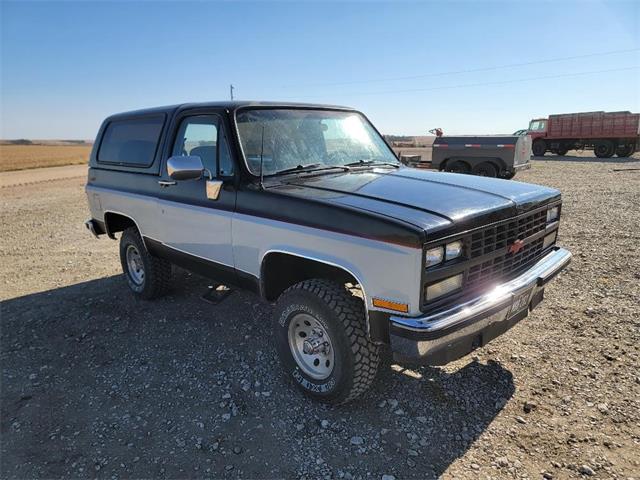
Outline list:
[[[238,99],[355,106],[392,134],[503,133],[551,113],[640,110],[640,2],[1,8],[2,138],[92,139],[111,113],[225,100],[230,83]]]

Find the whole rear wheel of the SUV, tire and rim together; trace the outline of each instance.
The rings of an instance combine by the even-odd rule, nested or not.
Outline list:
[[[171,285],[171,263],[152,256],[135,227],[120,238],[120,263],[127,285],[137,296],[150,300],[164,295]]]

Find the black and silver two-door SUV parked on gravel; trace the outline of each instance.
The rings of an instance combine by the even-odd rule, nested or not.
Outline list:
[[[401,165],[361,113],[225,102],[113,115],[86,187],[96,235],[151,299],[172,265],[275,302],[308,395],[344,403],[381,351],[445,364],[527,316],[570,261],[557,190]],[[265,326],[266,328],[266,326]]]

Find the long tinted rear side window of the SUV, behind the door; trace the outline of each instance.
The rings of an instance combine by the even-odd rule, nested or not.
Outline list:
[[[155,158],[164,115],[114,120],[98,150],[98,162],[149,167]]]

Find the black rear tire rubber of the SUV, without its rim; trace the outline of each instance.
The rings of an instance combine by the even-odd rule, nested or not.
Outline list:
[[[127,249],[132,245],[140,254],[144,266],[144,280],[136,283],[129,272]],[[171,287],[171,263],[149,253],[135,227],[127,228],[120,237],[120,263],[125,280],[131,291],[145,300],[158,298],[166,294]]]

